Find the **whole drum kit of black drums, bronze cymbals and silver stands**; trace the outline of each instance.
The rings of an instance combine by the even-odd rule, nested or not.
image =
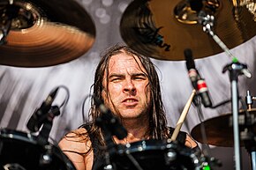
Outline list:
[[[230,48],[256,35],[255,11],[253,0],[134,0],[120,22],[125,43],[143,55],[181,61],[184,49],[190,48],[194,58],[221,52],[232,58],[223,69],[223,72],[230,71],[232,113],[201,122],[192,129],[192,137],[202,144],[234,147],[237,169],[240,168],[240,146],[247,146],[252,169],[256,169],[256,110],[251,107],[238,110],[237,77],[250,77],[250,73],[246,65],[231,54]],[[94,43],[93,20],[72,0],[2,0],[0,12],[0,64],[3,65],[44,67],[67,63],[85,54]],[[247,105],[251,104],[248,94]],[[180,126],[177,123],[177,131]],[[202,126],[207,141],[201,135]],[[176,144],[175,138],[118,145],[111,160],[117,170],[209,169],[213,165],[215,160]],[[11,129],[0,131],[0,165],[4,170],[75,169],[56,145],[39,144],[37,137]]]

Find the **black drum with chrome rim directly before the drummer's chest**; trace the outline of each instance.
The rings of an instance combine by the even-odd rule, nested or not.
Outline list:
[[[145,140],[118,145],[111,157],[116,170],[184,170],[200,169],[200,159],[192,149],[165,140]]]

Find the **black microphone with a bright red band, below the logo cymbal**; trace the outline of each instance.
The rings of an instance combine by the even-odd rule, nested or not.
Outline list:
[[[184,49],[184,57],[188,75],[191,79],[193,88],[200,94],[200,98],[204,107],[212,107],[212,101],[210,100],[206,81],[204,78],[200,77],[199,71],[195,68],[195,63],[192,57],[192,50],[190,48]]]

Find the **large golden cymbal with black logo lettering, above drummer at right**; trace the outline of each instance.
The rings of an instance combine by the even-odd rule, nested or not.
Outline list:
[[[207,0],[204,8],[214,9],[210,12],[215,16],[215,34],[228,48],[235,48],[256,34],[255,5],[252,1]],[[128,46],[155,59],[184,60],[185,48],[192,49],[195,59],[222,52],[203,31],[187,0],[133,1],[121,18],[120,32]]]

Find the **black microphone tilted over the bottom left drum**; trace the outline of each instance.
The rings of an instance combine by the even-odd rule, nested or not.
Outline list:
[[[46,100],[41,103],[41,106],[35,109],[34,114],[30,117],[26,123],[26,128],[32,132],[36,132],[41,128],[42,123],[44,123],[48,118],[48,112],[51,108],[52,102],[56,97],[56,92],[58,87],[49,93]]]

